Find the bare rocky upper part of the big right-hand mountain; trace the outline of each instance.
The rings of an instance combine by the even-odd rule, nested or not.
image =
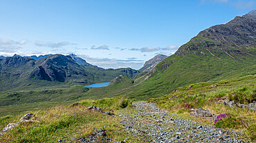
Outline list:
[[[227,55],[234,59],[234,56],[248,53],[248,48],[244,47],[256,44],[255,12],[253,10],[242,17],[235,17],[226,24],[214,25],[199,32],[188,43],[182,45],[175,54],[184,56],[192,52],[220,50],[219,52],[228,53]],[[212,55],[212,52],[209,53]]]

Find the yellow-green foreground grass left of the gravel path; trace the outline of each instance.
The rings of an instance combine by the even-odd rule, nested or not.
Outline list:
[[[70,141],[73,137],[89,135],[96,129],[106,129],[107,135],[116,142],[125,140],[125,138],[136,142],[135,137],[122,131],[123,126],[118,122],[117,117],[87,110],[87,104],[90,104],[91,106],[105,106],[114,109],[113,111],[116,113],[116,109],[113,107],[122,107],[123,104],[127,106],[127,98],[90,100],[80,103],[34,111],[39,122],[26,122],[15,126],[14,129],[1,136],[0,142],[57,142],[59,139]],[[24,114],[1,117],[1,128],[10,122],[17,122],[22,115]]]

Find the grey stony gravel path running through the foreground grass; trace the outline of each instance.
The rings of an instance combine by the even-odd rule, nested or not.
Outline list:
[[[185,120],[176,114],[158,109],[154,103],[133,103],[134,112],[119,113],[125,131],[139,135],[143,142],[246,142],[236,140],[235,131],[217,129],[194,120]]]

